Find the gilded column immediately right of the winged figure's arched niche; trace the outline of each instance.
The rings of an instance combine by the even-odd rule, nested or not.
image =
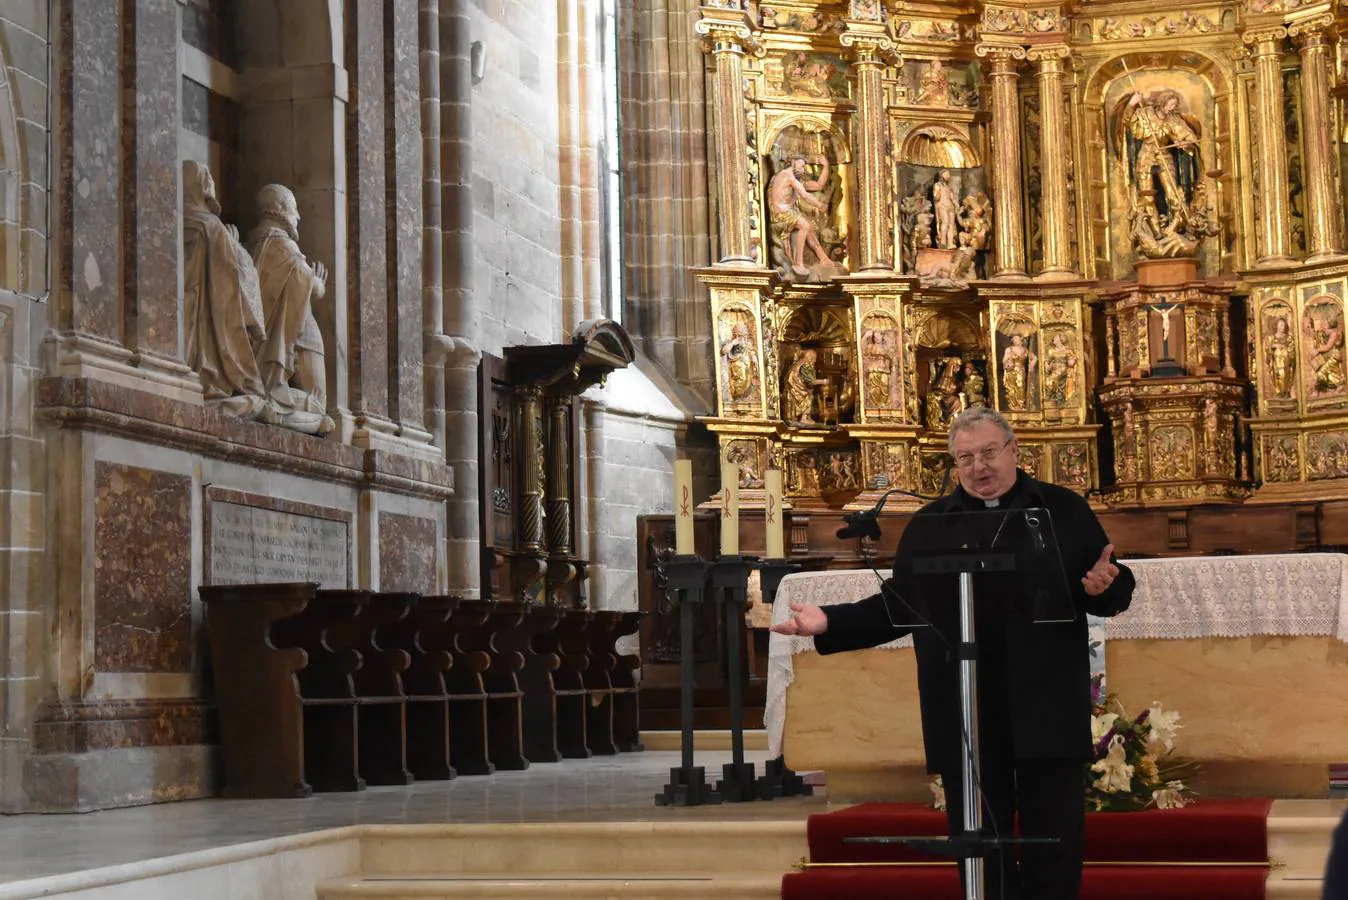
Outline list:
[[[1287,140],[1282,105],[1282,26],[1252,28],[1242,35],[1255,58],[1255,110],[1259,141],[1254,148],[1259,175],[1259,228],[1255,265],[1289,261]]]

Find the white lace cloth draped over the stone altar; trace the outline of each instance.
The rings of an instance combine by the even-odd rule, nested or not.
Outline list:
[[[1348,556],[1343,554],[1182,556],[1127,565],[1138,587],[1128,610],[1107,620],[1107,639],[1333,635],[1348,643]],[[787,575],[772,602],[772,621],[785,621],[790,604],[847,604],[878,593],[879,583],[868,569]],[[913,639],[905,637],[880,649],[911,645]],[[803,652],[814,652],[813,637],[770,636],[763,725],[774,756],[782,752],[791,657]]]

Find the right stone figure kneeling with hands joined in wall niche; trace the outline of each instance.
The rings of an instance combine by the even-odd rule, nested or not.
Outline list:
[[[257,191],[257,226],[248,249],[257,264],[266,338],[255,348],[267,396],[280,424],[295,431],[326,434],[328,381],[324,337],[314,319],[314,300],[324,298],[328,269],[310,265],[299,252],[299,210],[283,185]]]

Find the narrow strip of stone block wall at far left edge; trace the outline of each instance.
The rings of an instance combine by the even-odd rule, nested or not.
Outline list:
[[[34,422],[47,327],[46,0],[0,8],[0,810],[18,806],[42,694],[46,473]]]

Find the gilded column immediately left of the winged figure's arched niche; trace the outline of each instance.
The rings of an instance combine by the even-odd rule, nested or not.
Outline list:
[[[1043,269],[1045,280],[1070,280],[1072,234],[1068,230],[1069,127],[1062,109],[1062,61],[1072,55],[1064,44],[1034,47],[1030,59],[1038,63],[1039,78],[1039,163],[1043,179]]]

